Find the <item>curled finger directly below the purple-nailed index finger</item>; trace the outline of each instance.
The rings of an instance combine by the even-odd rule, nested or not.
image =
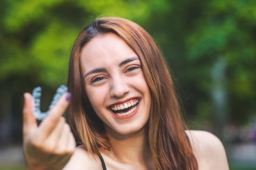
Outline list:
[[[60,117],[57,126],[55,126],[55,128],[52,130],[52,133],[45,139],[45,146],[47,149],[49,149],[49,151],[54,151],[58,147],[59,139],[65,128],[65,122],[65,118]],[[40,139],[44,140],[41,136]]]

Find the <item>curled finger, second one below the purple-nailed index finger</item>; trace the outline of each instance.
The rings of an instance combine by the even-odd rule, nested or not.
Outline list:
[[[57,153],[63,154],[66,151],[70,133],[71,133],[71,131],[70,131],[69,125],[67,123],[65,123],[63,126],[63,131],[62,131],[61,136],[58,141],[58,146],[56,149]]]

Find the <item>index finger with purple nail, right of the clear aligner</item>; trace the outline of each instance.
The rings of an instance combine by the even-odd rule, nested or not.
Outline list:
[[[64,114],[66,108],[68,107],[70,98],[71,93],[64,93],[52,110],[50,110],[47,117],[41,122],[38,132],[42,136],[47,137],[50,135],[54,127],[59,122],[60,117]]]

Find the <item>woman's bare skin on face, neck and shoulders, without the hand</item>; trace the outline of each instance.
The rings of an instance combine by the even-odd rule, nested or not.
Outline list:
[[[93,68],[104,67],[107,70],[86,77],[85,89],[92,107],[105,124],[111,143],[110,151],[100,150],[108,170],[154,169],[151,152],[144,135],[144,126],[149,114],[149,99],[151,99],[148,87],[141,69],[127,75],[126,65],[123,68],[118,66],[120,61],[129,56],[137,55],[113,33],[95,37],[81,52],[81,66],[84,74]],[[134,61],[127,66],[133,64],[140,65],[140,62]],[[90,80],[95,76],[102,76],[103,79],[96,85],[92,85]],[[133,117],[136,119],[124,122],[113,118],[108,112],[108,106],[130,96],[142,96],[140,110],[137,117]],[[216,136],[209,132],[195,130],[186,131],[186,133],[198,160],[199,170],[228,169],[224,147]],[[79,146],[65,169],[74,167],[80,169],[85,165],[88,169],[102,169],[100,159],[97,155],[94,156],[95,159],[83,146]]]

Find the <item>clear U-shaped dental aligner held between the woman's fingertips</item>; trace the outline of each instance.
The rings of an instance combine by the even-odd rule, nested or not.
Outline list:
[[[56,94],[53,96],[53,100],[51,102],[51,105],[49,106],[49,109],[46,112],[41,112],[40,101],[41,101],[41,95],[42,95],[42,88],[41,87],[34,88],[32,92],[32,110],[36,119],[40,121],[43,120],[46,117],[46,115],[49,113],[49,111],[52,109],[52,107],[54,107],[54,105],[60,99],[60,96],[65,92],[68,92],[68,87],[65,85],[60,85],[60,87],[56,90]]]

